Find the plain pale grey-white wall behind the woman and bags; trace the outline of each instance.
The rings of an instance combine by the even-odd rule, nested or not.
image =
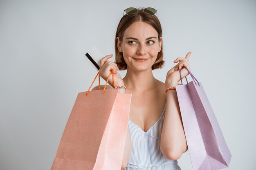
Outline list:
[[[1,170],[51,168],[77,93],[97,73],[85,53],[96,46],[115,56],[115,31],[128,7],[157,9],[166,61],[153,71],[157,79],[164,82],[173,61],[192,51],[191,73],[232,154],[227,169],[256,169],[255,0],[1,0]],[[192,170],[189,152],[178,164]]]

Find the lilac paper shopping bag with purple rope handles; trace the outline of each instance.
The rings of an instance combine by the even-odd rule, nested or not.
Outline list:
[[[186,79],[187,84],[176,86],[176,91],[193,170],[227,168],[231,153],[213,109],[202,84],[186,70],[194,81]]]

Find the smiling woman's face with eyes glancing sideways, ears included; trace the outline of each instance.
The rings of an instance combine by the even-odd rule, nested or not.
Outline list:
[[[119,52],[123,53],[127,69],[145,71],[150,69],[161,51],[157,31],[145,22],[134,22],[124,32],[123,41],[117,37]]]

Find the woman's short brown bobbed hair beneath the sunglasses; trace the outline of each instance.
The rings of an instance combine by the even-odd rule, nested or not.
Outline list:
[[[145,22],[149,25],[151,25],[158,34],[158,40],[159,42],[160,37],[162,37],[162,27],[161,24],[157,18],[156,15],[151,15],[150,13],[147,12],[143,12],[143,9],[139,9],[139,11],[135,11],[134,13],[129,13],[129,15],[125,14],[118,26],[117,26],[117,32],[116,32],[116,36],[115,36],[115,63],[117,64],[119,70],[126,70],[127,69],[127,65],[126,62],[124,61],[124,56],[123,53],[119,52],[118,48],[117,48],[117,37],[119,37],[120,41],[123,41],[123,37],[124,37],[124,31],[134,22],[137,21],[142,21]],[[155,61],[155,63],[152,66],[152,70],[157,69],[157,68],[162,68],[162,66],[164,66],[164,60],[163,60],[163,43],[162,43],[162,48],[161,51],[157,54],[157,59]]]

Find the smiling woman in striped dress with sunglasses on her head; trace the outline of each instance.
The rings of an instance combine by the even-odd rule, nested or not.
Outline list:
[[[108,61],[111,54],[100,64],[99,75],[103,79],[111,71],[121,93],[132,94],[120,167],[125,170],[180,170],[177,159],[187,150],[177,93],[169,87],[178,85],[179,70],[182,78],[189,74],[182,66],[190,70],[191,52],[174,60],[177,65],[168,71],[165,83],[153,76],[152,70],[164,64],[162,28],[154,10],[126,9],[117,27],[115,62]],[[127,73],[122,79],[117,71],[125,69]],[[108,83],[114,87],[112,76]],[[96,89],[98,86],[93,88]]]

